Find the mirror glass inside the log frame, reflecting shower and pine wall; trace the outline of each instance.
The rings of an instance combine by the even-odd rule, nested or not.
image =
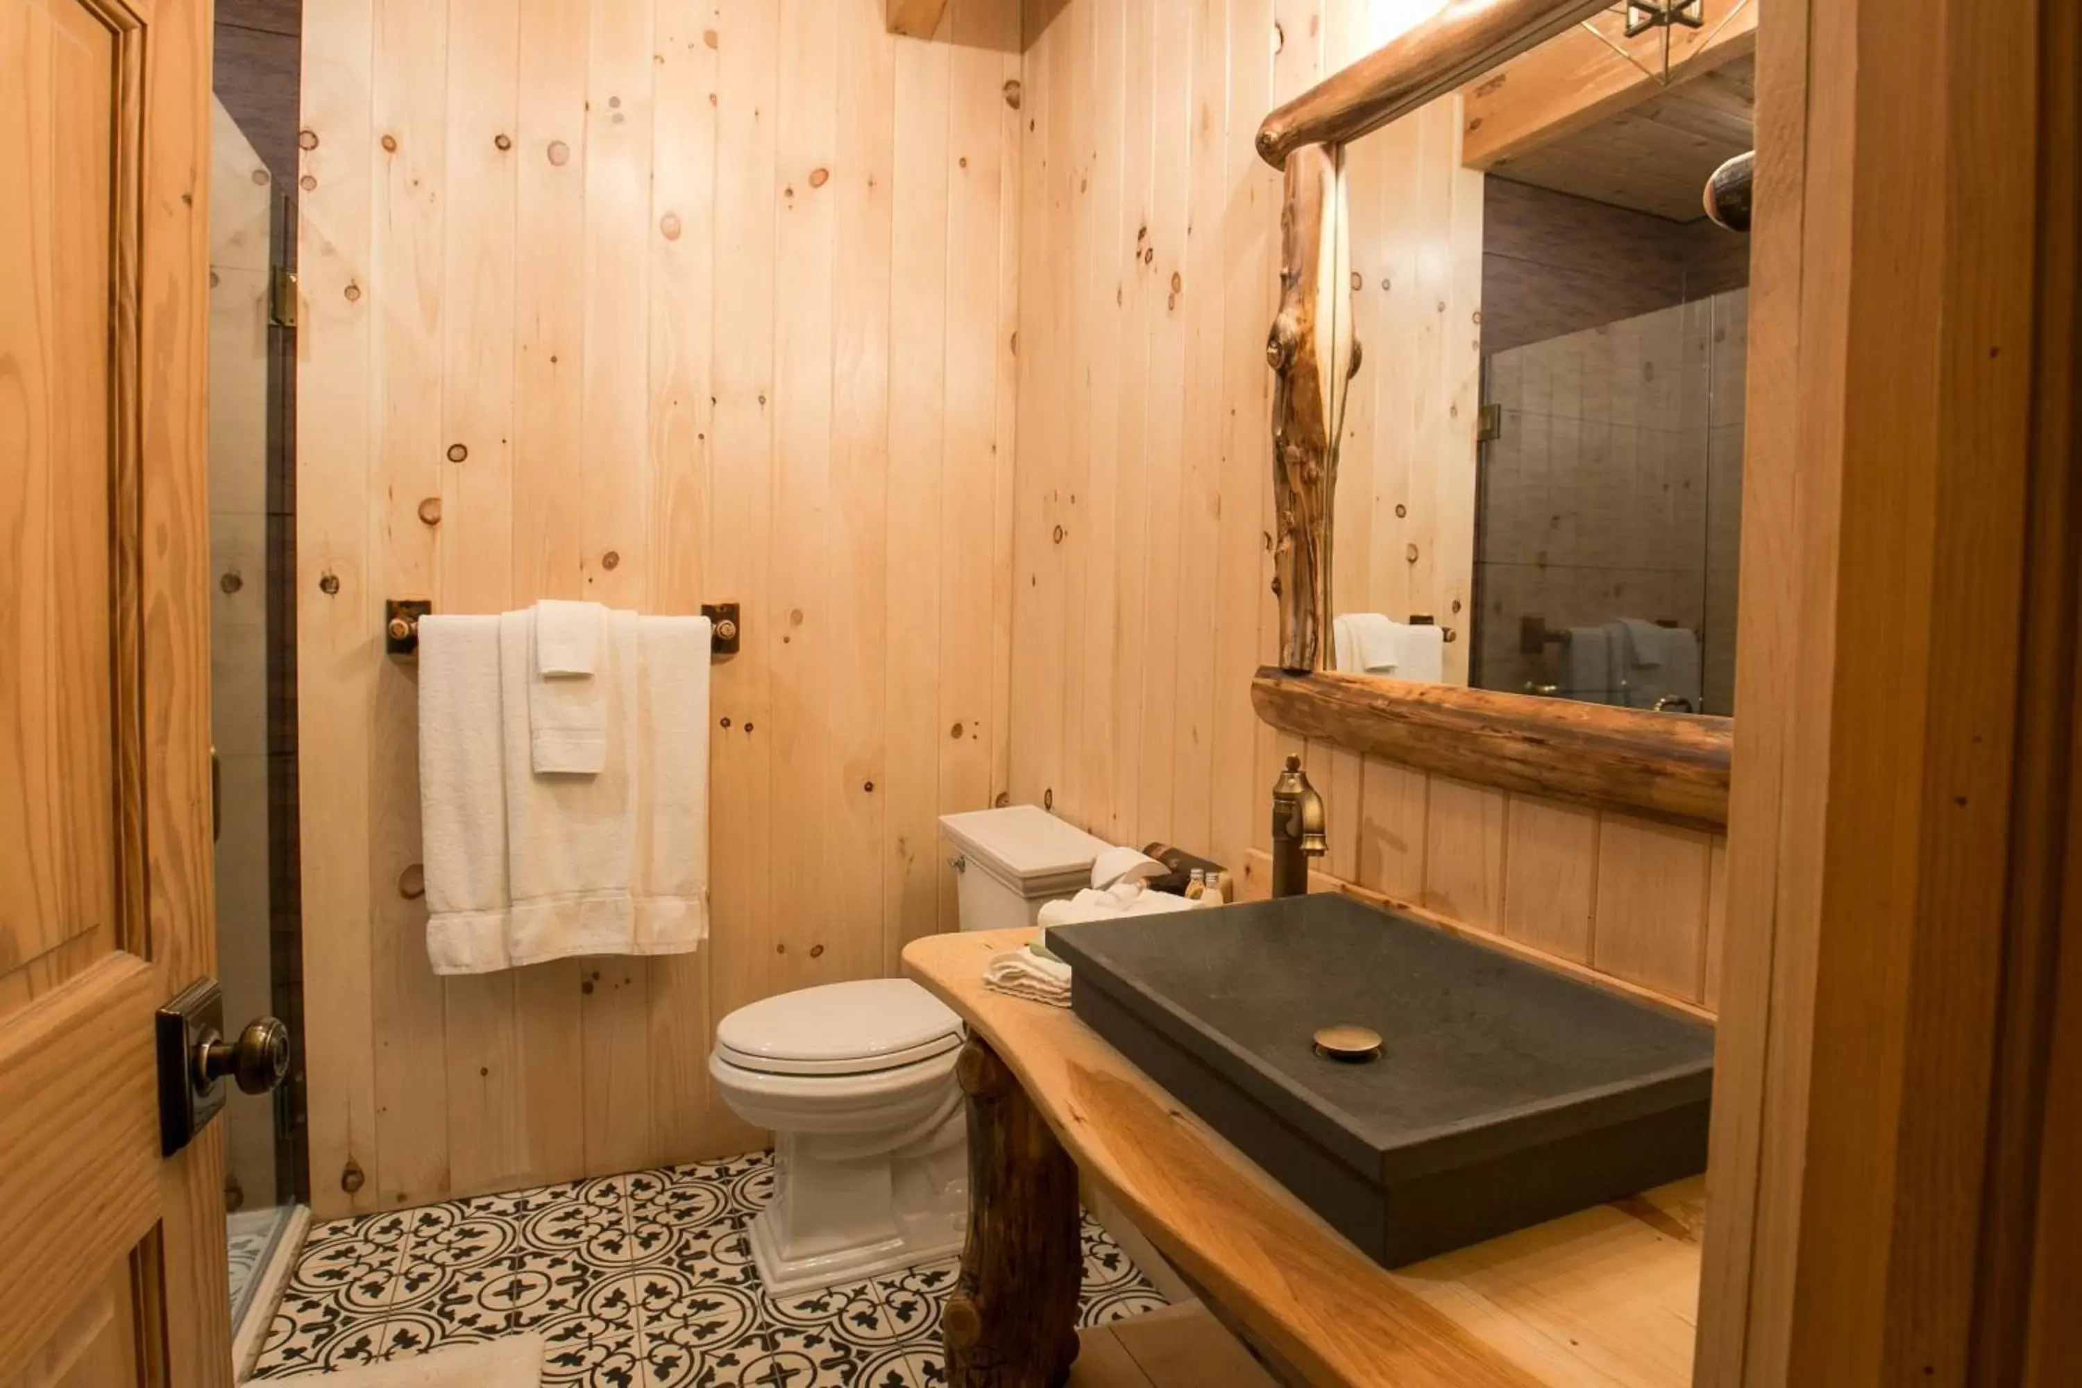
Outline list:
[[[1732,714],[1749,237],[1709,223],[1701,189],[1751,148],[1753,58],[1472,154],[1451,210],[1399,208],[1399,142],[1451,104],[1347,152],[1364,356],[1330,662]]]

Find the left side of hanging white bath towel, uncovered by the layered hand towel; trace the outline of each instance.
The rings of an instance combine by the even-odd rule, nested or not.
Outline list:
[[[506,732],[496,616],[418,620],[418,822],[433,972],[506,968]]]

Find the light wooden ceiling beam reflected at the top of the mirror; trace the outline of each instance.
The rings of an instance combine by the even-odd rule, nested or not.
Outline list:
[[[1757,8],[1759,0],[1749,0],[1726,23],[1676,29],[1670,37],[1670,85],[1755,52]],[[1664,83],[1605,40],[1582,27],[1570,29],[1462,87],[1462,162],[1495,169],[1661,89]]]

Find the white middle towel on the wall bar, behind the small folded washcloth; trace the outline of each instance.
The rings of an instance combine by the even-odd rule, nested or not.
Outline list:
[[[602,633],[602,770],[543,776],[533,768],[529,695],[535,614],[500,618],[500,693],[506,735],[506,845],[512,916],[506,963],[627,953],[635,941],[637,616],[610,612]]]

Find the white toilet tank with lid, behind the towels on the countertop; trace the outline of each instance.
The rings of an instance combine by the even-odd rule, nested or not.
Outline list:
[[[939,816],[958,882],[962,930],[1035,924],[1043,901],[1091,886],[1091,859],[1106,847],[1039,805]]]

